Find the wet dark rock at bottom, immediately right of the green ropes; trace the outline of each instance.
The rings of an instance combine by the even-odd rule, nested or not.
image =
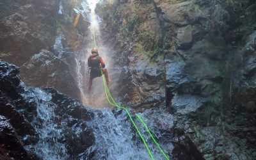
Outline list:
[[[167,151],[166,154],[171,159],[204,159],[191,139],[185,136],[182,129],[177,127],[178,119],[176,116],[166,113],[161,108],[147,109],[139,115],[148,124],[148,128],[157,139],[157,143],[163,150]],[[140,123],[137,124],[140,126]],[[142,131],[146,132],[144,129]]]

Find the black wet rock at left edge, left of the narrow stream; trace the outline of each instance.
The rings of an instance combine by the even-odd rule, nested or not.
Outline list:
[[[26,102],[20,94],[23,92],[24,88],[21,85],[19,68],[0,60],[0,114],[9,119],[10,124],[20,136],[29,134],[35,137],[35,130],[26,118],[19,113],[22,109],[28,109],[23,112],[24,115],[35,113],[33,104]],[[16,105],[20,110],[15,109]]]

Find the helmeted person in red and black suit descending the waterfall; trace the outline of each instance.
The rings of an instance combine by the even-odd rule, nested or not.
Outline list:
[[[106,81],[109,84],[110,80],[108,77],[108,70],[105,68],[105,63],[103,59],[99,56],[98,49],[93,48],[92,49],[92,54],[88,58],[88,67],[91,68],[90,72],[90,80],[89,80],[89,86],[88,90],[92,90],[92,80],[95,77],[100,77],[102,76],[101,70],[104,73],[104,76],[106,77]]]

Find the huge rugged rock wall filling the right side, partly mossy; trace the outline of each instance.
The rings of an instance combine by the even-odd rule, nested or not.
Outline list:
[[[99,5],[116,61],[122,54],[123,102],[137,111],[166,104],[205,159],[255,159],[253,8],[253,1]],[[150,66],[157,74],[147,76]]]

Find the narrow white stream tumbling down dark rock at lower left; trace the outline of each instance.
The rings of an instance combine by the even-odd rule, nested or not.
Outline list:
[[[67,148],[58,138],[63,134],[62,128],[52,121],[54,119],[54,108],[51,106],[51,94],[45,93],[39,88],[29,91],[24,97],[33,97],[36,100],[37,116],[32,122],[36,132],[39,133],[39,141],[36,145],[26,146],[43,159],[67,159]]]

